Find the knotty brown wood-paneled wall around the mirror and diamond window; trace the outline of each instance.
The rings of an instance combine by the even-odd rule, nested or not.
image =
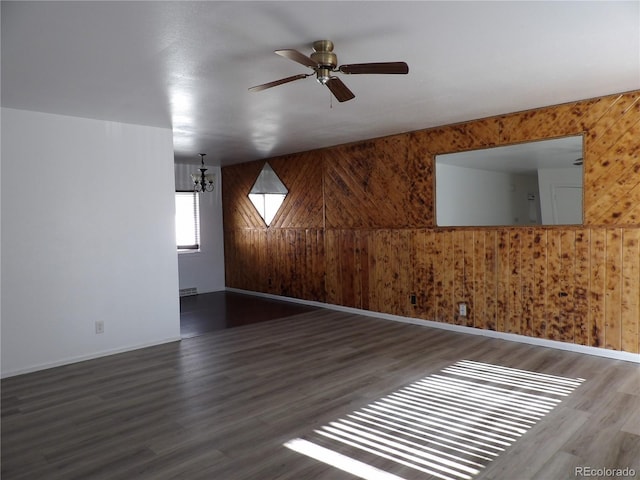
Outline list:
[[[435,226],[436,154],[580,133],[583,226]],[[227,286],[639,352],[640,91],[268,161],[269,228],[264,161],[222,169]]]

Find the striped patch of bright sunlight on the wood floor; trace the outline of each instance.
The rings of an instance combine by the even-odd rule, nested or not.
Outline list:
[[[404,480],[389,461],[470,480],[583,381],[462,360],[285,446],[365,480]]]

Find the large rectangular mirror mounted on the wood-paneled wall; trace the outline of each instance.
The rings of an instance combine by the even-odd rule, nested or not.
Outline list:
[[[580,225],[582,158],[582,135],[436,155],[436,224]]]

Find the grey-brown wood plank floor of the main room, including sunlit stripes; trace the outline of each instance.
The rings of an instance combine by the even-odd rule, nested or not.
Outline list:
[[[313,309],[4,379],[2,479],[638,478],[639,368]]]

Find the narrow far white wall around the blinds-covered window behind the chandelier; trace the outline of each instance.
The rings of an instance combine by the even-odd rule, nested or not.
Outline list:
[[[206,158],[206,157],[205,157]],[[191,190],[191,174],[200,165],[175,165],[176,189]],[[180,288],[198,293],[224,290],[224,232],[222,227],[222,182],[220,167],[207,167],[216,175],[213,192],[200,194],[200,251],[178,254]]]

